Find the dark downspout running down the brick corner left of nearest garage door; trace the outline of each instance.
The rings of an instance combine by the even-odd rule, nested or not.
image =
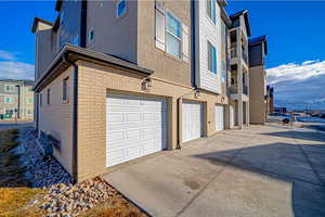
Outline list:
[[[74,104],[73,104],[73,178],[78,181],[78,65],[63,55],[63,62],[74,66]]]

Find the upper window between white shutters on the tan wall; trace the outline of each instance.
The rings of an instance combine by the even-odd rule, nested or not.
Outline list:
[[[182,24],[170,12],[167,13],[167,35],[166,51],[167,53],[181,58],[182,49]]]

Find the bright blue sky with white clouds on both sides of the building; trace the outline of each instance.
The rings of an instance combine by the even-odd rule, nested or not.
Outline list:
[[[1,78],[34,77],[32,20],[54,21],[54,1],[0,0]],[[243,0],[229,1],[226,7],[230,14],[243,9],[249,11],[252,36],[268,36],[268,80],[275,86],[276,103],[324,107],[316,101],[325,101],[325,1]],[[303,90],[295,91],[295,86]]]

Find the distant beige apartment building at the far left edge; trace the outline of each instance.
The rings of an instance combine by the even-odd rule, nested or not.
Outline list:
[[[32,80],[0,80],[0,119],[32,119]]]

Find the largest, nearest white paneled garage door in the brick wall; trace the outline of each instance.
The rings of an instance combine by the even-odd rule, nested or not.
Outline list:
[[[108,95],[106,113],[107,167],[167,149],[166,100]]]

